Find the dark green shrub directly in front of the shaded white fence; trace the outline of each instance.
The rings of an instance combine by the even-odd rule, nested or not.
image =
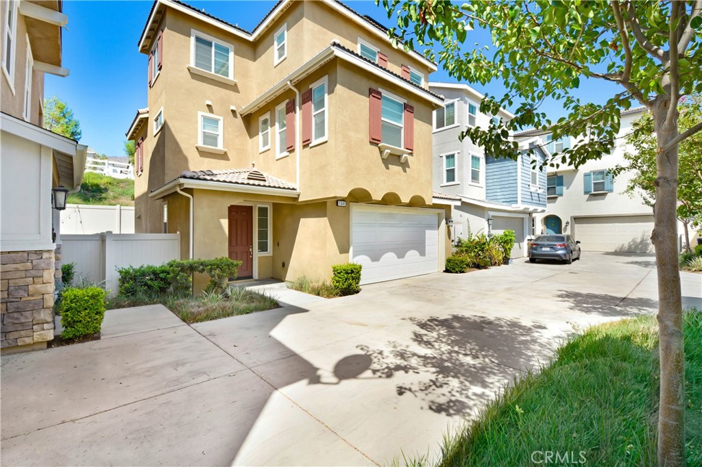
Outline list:
[[[162,266],[118,268],[119,295],[123,297],[157,297],[190,293],[190,276],[171,263]]]

